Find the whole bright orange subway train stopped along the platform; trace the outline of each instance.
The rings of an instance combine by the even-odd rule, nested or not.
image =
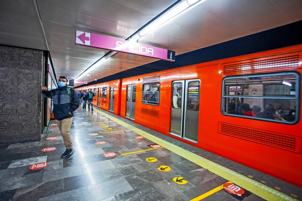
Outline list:
[[[301,73],[297,45],[77,90],[93,88],[95,106],[302,187]]]

